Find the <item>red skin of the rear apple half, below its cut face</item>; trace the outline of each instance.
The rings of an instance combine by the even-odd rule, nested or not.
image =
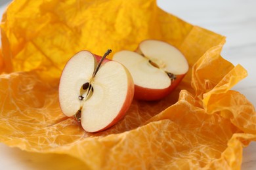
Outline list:
[[[184,75],[177,75],[176,79],[171,82],[171,86],[164,89],[151,89],[151,88],[143,88],[141,86],[137,86],[135,84],[135,95],[134,98],[138,100],[144,101],[156,101],[160,100],[163,97],[166,97],[171,93],[175,88],[179,85]]]

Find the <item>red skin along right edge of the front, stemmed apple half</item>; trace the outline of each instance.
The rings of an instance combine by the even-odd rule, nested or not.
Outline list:
[[[110,59],[109,59],[110,61]],[[126,69],[126,68],[125,68]],[[104,127],[103,129],[100,129],[98,131],[95,132],[99,132],[99,131],[104,131],[112,126],[114,126],[117,122],[119,122],[126,114],[127,110],[129,110],[131,103],[133,101],[133,97],[135,94],[135,85],[133,83],[133,77],[131,76],[131,74],[129,73],[129,71],[126,69],[127,75],[128,75],[128,92],[125,98],[125,102],[123,103],[123,106],[121,107],[121,110],[119,111],[119,113],[117,114],[116,118],[114,118],[114,120],[112,120],[112,122],[110,122],[110,124],[108,124],[108,126]]]

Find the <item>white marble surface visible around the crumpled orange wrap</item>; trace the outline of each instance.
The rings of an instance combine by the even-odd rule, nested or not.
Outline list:
[[[7,6],[1,0],[0,14]],[[248,76],[233,89],[243,93],[256,105],[256,1],[255,0],[158,0],[158,5],[186,22],[226,36],[222,56],[234,65],[240,63]],[[0,17],[1,18],[1,17]],[[40,157],[41,161],[33,162]],[[58,169],[45,162],[53,157],[29,154],[0,144],[0,169]],[[63,158],[64,160],[67,158]],[[62,164],[65,161],[62,162]],[[65,163],[64,163],[65,165]],[[39,168],[41,167],[41,168]],[[62,166],[61,169],[71,169]],[[256,142],[244,148],[242,169],[256,169]]]

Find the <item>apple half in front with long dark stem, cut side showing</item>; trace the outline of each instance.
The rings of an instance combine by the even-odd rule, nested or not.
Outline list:
[[[88,132],[116,124],[133,101],[133,78],[121,63],[104,61],[110,52],[99,63],[99,57],[91,52],[78,52],[66,63],[60,77],[58,98],[62,112],[81,121]]]

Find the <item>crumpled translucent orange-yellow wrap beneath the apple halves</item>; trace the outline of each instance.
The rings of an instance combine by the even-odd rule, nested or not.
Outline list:
[[[16,0],[1,37],[0,141],[9,146],[68,154],[83,169],[240,169],[242,147],[256,140],[253,105],[230,90],[247,72],[221,58],[225,38],[167,14],[156,0]],[[79,50],[135,50],[144,39],[169,42],[188,59],[173,93],[134,100],[100,133],[62,114],[58,82],[68,59]]]

